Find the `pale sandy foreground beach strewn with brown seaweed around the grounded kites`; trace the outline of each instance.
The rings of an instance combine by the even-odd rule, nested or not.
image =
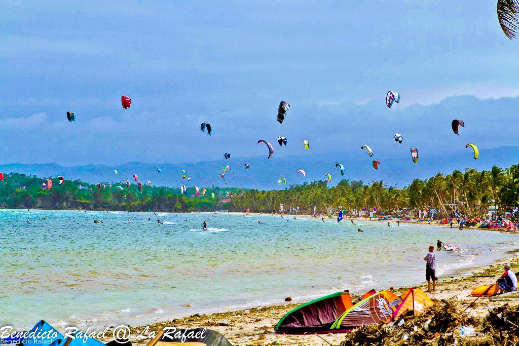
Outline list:
[[[509,253],[511,253],[510,251]],[[494,264],[485,266],[477,271],[474,268],[463,270],[465,273],[461,275],[452,275],[451,278],[441,280],[436,287],[436,292],[428,293],[430,298],[447,299],[457,296],[463,307],[468,307],[474,301],[474,297],[470,295],[471,290],[480,285],[494,283],[502,273],[502,266],[505,262],[509,262],[514,272],[519,271],[519,251],[513,251],[514,255],[496,260]],[[427,284],[421,283],[417,287],[427,289]],[[390,288],[390,287],[385,287]],[[393,292],[401,294],[408,287],[391,287]],[[476,302],[475,307],[469,312],[474,316],[483,316],[487,313],[486,306],[489,303],[488,298],[480,298]],[[493,306],[502,306],[505,302],[492,302]],[[510,302],[508,302],[510,303]],[[167,326],[196,328],[207,327],[217,330],[228,338],[235,345],[306,345],[321,346],[326,342],[338,345],[344,340],[345,334],[324,334],[324,335],[287,335],[277,334],[274,326],[281,317],[291,309],[301,305],[301,303],[280,302],[276,305],[267,305],[262,307],[254,307],[243,310],[231,310],[210,314],[195,313],[180,319],[173,319],[165,322],[153,323],[148,326],[130,327],[130,338],[133,343],[146,344],[149,338],[147,335],[152,331],[158,331]],[[517,302],[512,304],[519,305]],[[108,338],[102,341],[110,341]]]

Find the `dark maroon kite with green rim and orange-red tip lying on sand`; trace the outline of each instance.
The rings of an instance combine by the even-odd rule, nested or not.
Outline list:
[[[278,333],[329,331],[335,320],[353,306],[348,291],[312,300],[286,313],[274,330]]]

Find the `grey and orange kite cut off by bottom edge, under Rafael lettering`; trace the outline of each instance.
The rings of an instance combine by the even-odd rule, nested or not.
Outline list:
[[[233,346],[222,334],[206,328],[160,330],[146,346]]]

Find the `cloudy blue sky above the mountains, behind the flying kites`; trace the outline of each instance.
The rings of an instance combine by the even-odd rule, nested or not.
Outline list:
[[[424,155],[519,145],[519,41],[502,33],[495,0],[8,1],[0,11],[3,163],[266,157],[257,141],[279,135],[288,146],[276,143],[277,157],[305,155],[304,139],[312,154],[357,157],[368,144],[391,157],[394,132]],[[402,95],[391,109],[388,90]],[[452,119],[466,122],[459,136]]]

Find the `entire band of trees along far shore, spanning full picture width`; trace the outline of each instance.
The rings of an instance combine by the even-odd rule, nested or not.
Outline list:
[[[429,179],[414,179],[403,188],[388,186],[384,181],[365,183],[343,179],[333,187],[324,181],[313,181],[269,191],[200,187],[204,193],[198,196],[194,186],[188,186],[185,193],[178,187],[164,186],[142,186],[139,191],[136,184],[120,190],[126,184],[88,184],[67,179],[57,184],[58,177],[49,177],[55,182],[52,188],[43,189],[47,178],[10,173],[4,175],[4,184],[0,184],[0,203],[11,209],[245,212],[249,208],[251,212],[262,213],[278,213],[283,205],[284,211],[298,210],[305,214],[314,211],[329,214],[341,206],[350,214],[376,210],[379,215],[407,215],[434,209],[439,217],[454,213],[485,216],[495,212],[514,218],[519,206],[518,166],[438,173]]]

